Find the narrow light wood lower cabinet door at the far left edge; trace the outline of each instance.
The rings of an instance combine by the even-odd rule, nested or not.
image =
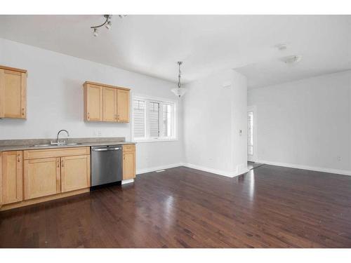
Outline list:
[[[22,166],[22,151],[4,151],[1,153],[0,206],[23,200]]]

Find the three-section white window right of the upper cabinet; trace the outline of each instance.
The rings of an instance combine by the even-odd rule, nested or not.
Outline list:
[[[176,139],[176,103],[133,97],[132,138],[138,142]]]

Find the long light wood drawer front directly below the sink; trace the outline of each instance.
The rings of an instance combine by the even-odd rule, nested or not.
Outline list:
[[[41,159],[61,156],[89,155],[90,147],[60,148],[60,149],[35,149],[24,151],[24,159]]]

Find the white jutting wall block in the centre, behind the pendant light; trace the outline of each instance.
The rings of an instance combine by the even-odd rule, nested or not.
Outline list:
[[[229,86],[223,87],[228,83]],[[183,136],[187,166],[227,176],[244,172],[245,77],[227,70],[194,81],[186,88]],[[239,129],[243,130],[241,137]]]

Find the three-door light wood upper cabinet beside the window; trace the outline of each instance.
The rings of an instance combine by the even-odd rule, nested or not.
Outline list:
[[[129,88],[86,81],[84,121],[129,122]]]

